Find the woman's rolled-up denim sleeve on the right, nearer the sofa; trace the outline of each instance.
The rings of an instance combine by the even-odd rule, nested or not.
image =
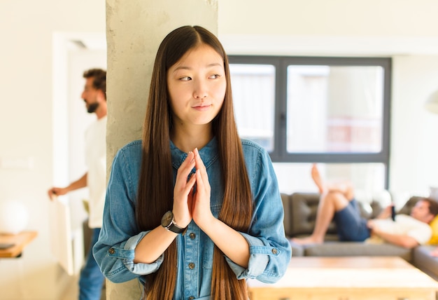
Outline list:
[[[257,151],[246,149],[246,165],[253,190],[253,220],[248,233],[241,233],[249,245],[248,268],[234,264],[227,258],[237,278],[253,278],[274,283],[283,277],[292,250],[285,237],[283,203],[271,159],[259,146]],[[248,145],[243,145],[248,146]]]

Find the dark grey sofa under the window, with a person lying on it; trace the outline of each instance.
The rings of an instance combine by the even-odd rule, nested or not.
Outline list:
[[[316,211],[319,203],[318,193],[281,194],[285,210],[284,226],[288,238],[309,236],[316,221]],[[420,197],[411,197],[397,213],[409,214],[411,207]],[[373,218],[383,207],[376,200],[371,203],[360,203],[362,216]],[[340,242],[337,238],[334,221],[329,226],[322,245],[297,245],[291,242],[292,256],[341,257],[341,256],[397,256],[402,257],[423,272],[438,280],[438,258],[430,256],[430,250],[437,246],[418,246],[407,249],[388,243],[355,243]]]

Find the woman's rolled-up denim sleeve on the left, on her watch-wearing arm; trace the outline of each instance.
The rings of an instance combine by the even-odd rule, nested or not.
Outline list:
[[[129,168],[132,165],[127,161],[127,157],[132,158],[129,150],[129,147],[121,149],[114,158],[106,190],[103,226],[93,247],[101,272],[113,282],[153,273],[160,268],[163,259],[160,257],[152,264],[134,264],[136,245],[148,232],[138,233],[135,222],[136,184],[133,179],[138,177]]]

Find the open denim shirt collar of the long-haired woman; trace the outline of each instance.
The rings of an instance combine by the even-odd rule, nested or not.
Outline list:
[[[181,166],[185,158],[187,158],[187,155],[184,151],[181,151],[178,149],[174,142],[170,141],[170,151],[171,151],[171,159],[172,159],[172,166],[178,170],[178,168]],[[216,137],[213,137],[213,139],[210,140],[202,149],[198,149],[199,156],[201,156],[202,161],[204,162],[204,165],[206,168],[209,168],[209,166],[214,163],[219,158],[219,151],[218,151],[218,140]]]

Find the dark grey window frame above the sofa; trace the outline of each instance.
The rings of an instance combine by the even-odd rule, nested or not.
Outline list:
[[[392,59],[390,57],[295,57],[264,55],[228,55],[229,64],[271,64],[275,67],[274,150],[269,152],[274,163],[382,163],[388,188],[390,163],[390,95]],[[288,153],[287,142],[287,88],[288,66],[379,66],[383,68],[383,111],[381,151],[377,153]]]

